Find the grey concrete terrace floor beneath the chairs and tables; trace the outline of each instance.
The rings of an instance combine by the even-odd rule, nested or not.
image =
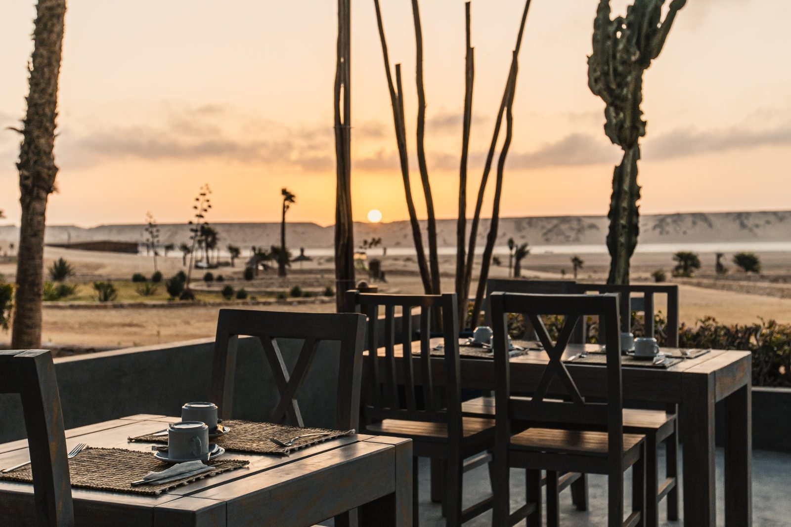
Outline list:
[[[662,456],[663,454],[660,454]],[[445,526],[441,506],[429,500],[429,461],[420,460],[420,525]],[[664,459],[660,460],[664,467]],[[626,471],[626,510],[630,510],[631,471]],[[723,503],[723,452],[717,449],[717,525],[725,525]],[[682,482],[683,485],[683,482]],[[791,454],[755,450],[752,454],[753,525],[755,527],[788,527],[791,525]],[[489,472],[479,467],[464,475],[464,506],[490,495]],[[571,505],[570,491],[561,495],[563,527],[593,527],[607,522],[607,478],[589,476],[589,510],[578,512]],[[511,471],[511,510],[524,503],[524,471]],[[683,510],[683,504],[682,504]],[[683,519],[683,518],[682,518]],[[486,513],[464,524],[465,527],[491,525],[491,514]],[[524,525],[524,522],[522,523]],[[667,508],[660,506],[660,525],[679,527],[683,521],[667,521]],[[694,527],[694,526],[690,526]]]

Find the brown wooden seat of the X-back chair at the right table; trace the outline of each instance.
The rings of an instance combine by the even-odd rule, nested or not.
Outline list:
[[[638,447],[645,436],[623,435],[623,453]],[[607,432],[528,428],[511,437],[510,448],[551,454],[607,457]]]

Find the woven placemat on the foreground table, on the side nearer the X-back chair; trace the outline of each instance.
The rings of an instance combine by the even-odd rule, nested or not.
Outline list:
[[[329,439],[354,434],[354,430],[330,430],[328,428],[301,428],[290,427],[285,424],[254,423],[237,419],[226,419],[222,426],[228,427],[229,432],[218,438],[210,439],[229,452],[247,452],[248,454],[278,454],[288,455],[292,450],[299,450],[306,446],[315,445]],[[275,445],[270,438],[286,442],[297,435],[325,434],[312,438],[297,439],[293,446],[283,447]],[[138,435],[129,438],[130,441],[146,441],[167,443],[167,435]]]

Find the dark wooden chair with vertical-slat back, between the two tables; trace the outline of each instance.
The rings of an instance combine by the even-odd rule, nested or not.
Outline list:
[[[379,295],[346,292],[346,311],[361,312],[368,316],[366,347],[371,357],[366,371],[367,390],[362,407],[362,427],[369,434],[412,439],[412,510],[416,526],[419,525],[419,457],[445,461],[443,508],[447,525],[461,525],[492,506],[492,498],[489,497],[462,510],[463,474],[465,469],[472,468],[470,464],[465,465],[464,460],[475,454],[486,454],[492,448],[494,422],[463,418],[461,415],[457,306],[455,294]],[[377,330],[380,307],[384,307],[384,357],[373,359],[382,340]],[[412,349],[414,334],[411,312],[414,308],[420,308],[420,354],[399,361],[403,365],[401,371],[396,367],[394,350],[397,307],[402,313],[397,340],[407,354]],[[441,311],[445,357],[442,360],[443,371],[436,373],[445,378],[444,397],[438,397],[433,386],[430,327],[432,314],[437,309]],[[399,385],[403,386],[403,392],[399,390]]]

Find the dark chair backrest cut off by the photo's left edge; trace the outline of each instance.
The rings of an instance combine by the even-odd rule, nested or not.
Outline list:
[[[19,393],[25,413],[36,525],[74,525],[66,435],[52,354],[41,349],[0,351],[0,372],[0,393]]]

